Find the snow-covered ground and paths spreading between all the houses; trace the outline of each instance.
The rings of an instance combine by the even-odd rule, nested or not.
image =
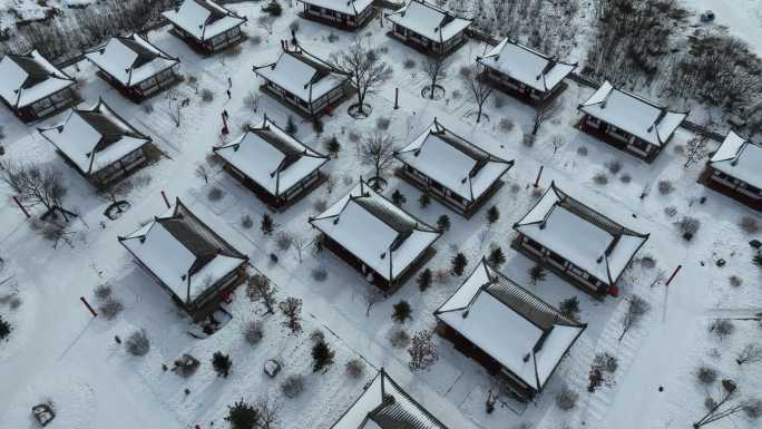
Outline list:
[[[720,7],[712,8],[721,19]],[[437,242],[438,254],[428,266],[446,269],[455,253],[463,252],[469,260],[467,272],[470,272],[481,255],[492,245],[499,245],[507,256],[501,271],[519,283],[529,284],[527,271],[533,264],[510,250],[509,243],[514,237],[514,222],[536,201],[531,183],[540,166],[545,167],[543,188],[555,181],[564,191],[614,220],[635,231],[651,233],[639,255],[651,255],[657,262],[653,269],[642,263],[633,264],[622,281],[621,296],[608,298],[605,302],[590,300],[555,275],[530,286],[533,292],[554,304],[578,296],[580,319],[588,323],[588,329],[561,362],[546,391],[528,406],[506,400],[494,413],[487,415],[485,400],[488,391],[495,388],[495,380],[441,339],[437,339],[439,361],[428,371],[410,372],[407,351],[393,348],[389,340],[397,328],[390,318],[392,305],[400,300],[411,304],[413,320],[403,326],[408,332],[431,328],[433,311],[462,279],[448,277],[426,292],[420,292],[411,281],[375,304],[367,315],[365,295],[371,286],[361,275],[329,252],[309,252],[300,263],[293,250],[279,250],[272,236],[260,232],[258,221],[267,209],[250,191],[224,172],[215,172],[209,184],[195,174],[196,165],[204,160],[212,145],[222,140],[219,115],[223,110],[229,113],[233,123],[231,138],[244,124],[258,124],[263,113],[285,125],[291,113],[277,101],[264,96],[254,114],[245,106],[244,98],[251,91],[257,91],[260,84],[252,66],[276,58],[280,40],[289,37],[292,21],[300,22],[297,37],[301,43],[319,56],[340,52],[353,37],[300,20],[296,10],[291,8],[285,9],[272,35],[267,35],[255,23],[261,13],[258,3],[245,2],[234,9],[250,18],[245,32],[262,38],[261,43],[244,42],[242,52],[236,56],[199,57],[169,35],[166,27],[149,35],[153,43],[180,58],[186,77],[195,76],[202,88],[215,94],[212,101],[205,103],[194,89],[182,84],[178,89],[192,103],[183,110],[180,127],[173,124],[164,96],[134,105],[100,80],[91,65],[82,62],[78,69],[67,69],[79,80],[79,90],[87,105],[104,97],[123,118],[152,136],[166,155],[138,173],[150,179],[143,181],[144,185],[130,193],[127,199],[131,207],[117,221],[108,221],[102,215],[107,202],[63,163],[36,133],[35,126],[21,124],[6,109],[0,113],[7,152],[2,158],[60,169],[69,189],[66,205],[80,214],[69,227],[70,243],[59,243],[52,248],[49,241],[31,230],[10,198],[3,197],[0,202],[0,257],[6,261],[0,271],[0,295],[16,293],[22,301],[16,310],[0,303],[0,314],[14,328],[10,340],[0,344],[0,397],[4,399],[0,401],[0,428],[32,427],[30,408],[46,400],[52,401],[58,412],[49,426],[53,429],[185,429],[195,425],[207,429],[212,421],[215,427],[225,427],[222,419],[227,406],[241,398],[251,401],[267,398],[277,404],[280,428],[330,428],[360,396],[364,382],[373,376],[373,368],[380,367],[385,367],[417,400],[456,429],[505,429],[521,423],[540,429],[565,426],[686,428],[704,412],[706,391],[694,376],[695,369],[704,363],[716,368],[722,378],[735,380],[742,398],[762,394],[761,364],[739,365],[734,361],[737,350],[745,343],[760,343],[759,322],[735,321],[736,332],[722,341],[707,332],[714,319],[745,318],[762,311],[760,271],[751,264],[752,250],[746,244],[754,237],[760,238],[761,234],[746,234],[737,226],[742,216],[762,220],[758,213],[697,184],[701,165],[683,168],[684,157],[676,148],[693,138],[688,131],[678,129],[671,147],[653,164],[646,165],[573,127],[578,119],[576,106],[593,90],[569,81],[561,96],[563,114],[544,124],[535,145],[527,147],[521,144],[521,137],[531,129],[534,110],[530,107],[498,95],[486,105],[488,119],[477,125],[472,115],[475,106],[460,88],[458,69],[483,52],[483,45],[469,42],[460,48],[448,60],[449,75],[441,82],[447,90],[446,98],[428,100],[420,96],[427,85],[427,76],[420,67],[422,56],[385,36],[388,28],[373,21],[358,36],[369,38],[382,52],[393,66],[394,76],[370,99],[373,113],[367,119],[355,120],[346,115],[351,104],[346,101],[336,108],[333,117],[324,119],[325,129],[320,137],[315,136],[311,124],[297,121],[297,136],[305,144],[324,152],[322,140],[335,135],[342,150],[339,158],[326,166],[335,177],[332,192],[323,185],[285,213],[273,215],[277,231],[314,236],[307,217],[318,213],[315,203],[339,199],[360,175],[367,176],[371,172],[370,166],[360,163],[352,136],[372,130],[379,118],[389,118],[389,131],[395,136],[398,146],[402,146],[437,117],[453,133],[491,148],[505,159],[516,159],[516,165],[505,176],[507,185],[491,202],[500,209],[500,220],[491,227],[486,226],[486,209],[470,221],[436,202],[422,209],[417,204],[420,194],[414,188],[390,178],[387,195],[400,189],[407,196],[406,208],[414,215],[430,224],[434,224],[441,214],[448,214],[452,221],[451,230]],[[759,31],[759,27],[754,31]],[[329,42],[329,35],[335,35],[338,39]],[[406,59],[413,59],[417,67],[406,69]],[[233,81],[231,100],[225,95],[228,77]],[[395,87],[400,88],[400,109],[393,108]],[[62,117],[59,115],[43,125],[56,124]],[[514,123],[512,129],[500,126],[504,118]],[[555,136],[560,136],[563,142],[557,150],[551,145]],[[585,149],[580,149],[583,147]],[[580,155],[584,150],[587,155]],[[615,159],[621,163],[621,170],[608,173],[608,166]],[[606,185],[593,179],[602,172],[608,176]],[[670,181],[674,191],[661,194],[657,191],[660,181]],[[209,201],[207,194],[213,187],[223,189],[222,199]],[[641,198],[644,191],[647,196]],[[251,303],[243,291],[238,291],[232,305],[234,319],[222,331],[206,340],[187,335],[188,319],[116,240],[117,235],[135,231],[138,224],[165,211],[160,192],[170,198],[183,198],[246,253],[252,264],[277,285],[279,299],[301,298],[304,303],[303,333],[289,334],[281,325],[282,314],[264,315],[260,304]],[[705,203],[701,202],[702,197],[706,197]],[[675,207],[677,215],[668,216],[665,207]],[[253,228],[242,226],[244,215],[254,218]],[[683,241],[673,225],[682,215],[701,221],[701,228],[691,242]],[[271,261],[271,253],[280,256],[277,263]],[[726,261],[722,267],[715,263],[720,259]],[[660,271],[668,275],[678,265],[683,266],[682,271],[668,287],[663,282],[651,286]],[[313,279],[312,272],[319,267],[328,271],[325,281]],[[731,286],[727,280],[731,275],[743,279],[743,284]],[[113,285],[115,295],[125,305],[124,312],[114,321],[91,319],[79,302],[79,296],[97,302],[92,289],[104,282]],[[626,310],[624,296],[629,293],[644,298],[652,310],[624,340],[618,341]],[[263,320],[265,325],[265,338],[255,348],[248,345],[241,333],[246,321],[252,319]],[[136,329],[145,329],[152,340],[152,350],[143,358],[128,355],[114,341],[114,335],[124,339]],[[324,332],[336,351],[336,363],[324,374],[314,374],[311,370],[310,333],[315,329]],[[233,371],[227,379],[216,378],[212,370],[209,360],[217,350],[229,353],[233,360]],[[196,374],[183,379],[163,371],[163,363],[172,367],[172,362],[186,352],[202,361]],[[615,355],[618,369],[609,386],[588,393],[589,367],[594,357],[602,352]],[[275,380],[262,372],[270,358],[284,363],[282,374]],[[354,358],[368,362],[361,380],[344,374],[343,364]],[[292,373],[303,373],[306,380],[305,391],[296,399],[285,398],[280,390],[283,377]],[[561,411],[555,404],[555,396],[564,386],[579,393],[574,410]],[[185,389],[188,389],[187,394]],[[713,427],[755,426],[739,415],[717,421]]]

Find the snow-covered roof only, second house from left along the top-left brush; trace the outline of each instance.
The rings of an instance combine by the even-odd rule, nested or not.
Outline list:
[[[125,87],[138,85],[179,62],[138,35],[114,37],[85,57]]]

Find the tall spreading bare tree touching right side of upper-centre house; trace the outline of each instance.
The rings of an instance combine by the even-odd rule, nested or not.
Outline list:
[[[358,90],[358,108],[365,114],[365,97],[373,95],[392,76],[392,68],[379,53],[355,38],[350,47],[334,59],[336,65],[350,74],[350,81]]]

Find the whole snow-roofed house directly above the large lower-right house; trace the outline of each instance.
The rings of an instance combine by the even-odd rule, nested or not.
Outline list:
[[[618,293],[622,273],[648,240],[648,234],[617,224],[555,183],[514,230],[514,248],[600,300]]]

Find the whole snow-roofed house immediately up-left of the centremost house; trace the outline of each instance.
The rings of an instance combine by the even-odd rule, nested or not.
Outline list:
[[[213,148],[224,168],[265,204],[283,211],[307,195],[328,176],[322,155],[264,118],[233,143]]]

